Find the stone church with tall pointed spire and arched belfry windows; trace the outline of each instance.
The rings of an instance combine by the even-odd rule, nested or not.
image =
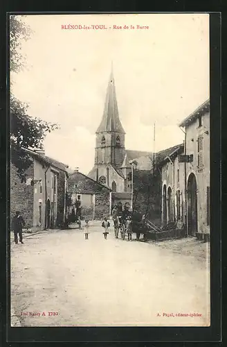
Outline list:
[[[152,153],[125,149],[125,130],[118,113],[114,74],[111,69],[102,120],[96,130],[95,164],[88,176],[111,189],[113,203],[130,203],[130,163],[133,160],[139,165],[138,169],[152,169]]]

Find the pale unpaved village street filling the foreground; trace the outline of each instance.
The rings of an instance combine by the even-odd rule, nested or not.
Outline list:
[[[205,258],[115,239],[112,227],[105,240],[92,223],[89,240],[72,229],[12,242],[11,301],[22,326],[209,325]]]

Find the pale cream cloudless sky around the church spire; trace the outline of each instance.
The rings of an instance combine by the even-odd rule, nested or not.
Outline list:
[[[207,14],[28,15],[23,20],[33,35],[21,44],[26,69],[11,74],[12,92],[29,104],[30,116],[60,125],[46,136],[46,155],[84,174],[94,164],[111,61],[127,149],[153,151],[154,122],[155,151],[180,144],[179,122],[210,96]],[[107,29],[62,29],[69,24]]]

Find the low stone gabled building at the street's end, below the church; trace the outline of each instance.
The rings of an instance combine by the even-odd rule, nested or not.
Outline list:
[[[75,202],[81,201],[82,218],[102,219],[110,214],[111,208],[111,189],[96,182],[92,178],[74,171],[69,175],[67,193],[71,197],[69,214],[74,208]]]

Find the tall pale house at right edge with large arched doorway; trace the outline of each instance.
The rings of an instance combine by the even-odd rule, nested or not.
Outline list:
[[[185,153],[189,156],[183,164],[188,234],[210,234],[210,99],[179,126],[185,130]]]

